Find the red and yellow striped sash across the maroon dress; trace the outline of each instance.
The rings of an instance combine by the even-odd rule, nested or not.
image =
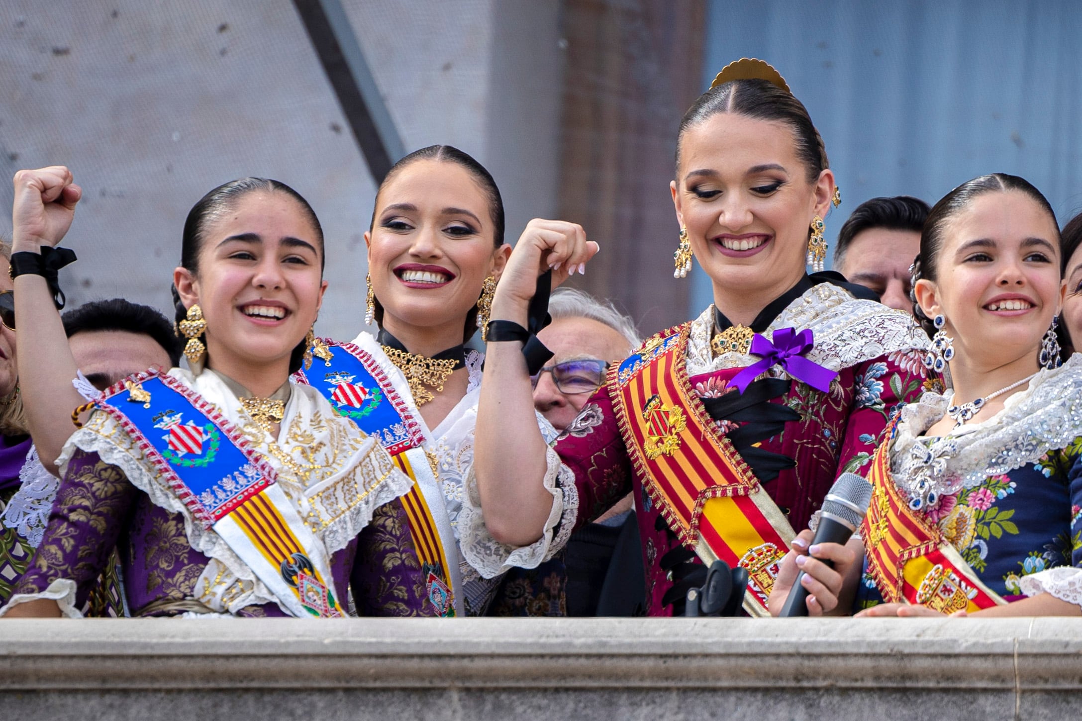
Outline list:
[[[748,569],[744,609],[766,615],[795,534],[691,390],[689,331],[690,323],[655,336],[615,371],[617,418],[650,499],[681,543],[704,562]]]

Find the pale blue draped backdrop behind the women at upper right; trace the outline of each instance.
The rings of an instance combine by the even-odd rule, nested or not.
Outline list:
[[[875,196],[934,203],[984,173],[1021,175],[1060,225],[1082,210],[1082,2],[710,0],[703,90],[729,62],[778,68],[842,189],[827,238]],[[696,271],[691,312],[711,302]]]

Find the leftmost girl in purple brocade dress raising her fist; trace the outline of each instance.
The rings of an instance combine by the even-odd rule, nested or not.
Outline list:
[[[35,437],[70,430],[79,402],[50,301],[54,259],[71,257],[53,246],[80,195],[66,168],[15,176],[15,311],[31,348],[19,363]],[[322,266],[316,215],[281,183],[242,178],[196,203],[173,275],[190,371],[144,373],[103,393],[87,384],[91,400],[72,419],[92,412],[64,445],[49,523],[0,615],[81,615],[114,547],[131,615],[348,612],[351,587],[357,598],[370,585],[358,546],[371,544],[358,536],[410,481],[322,396],[289,380],[327,355],[311,330]],[[395,547],[401,570],[417,565],[408,535]],[[430,607],[421,596],[399,601]]]

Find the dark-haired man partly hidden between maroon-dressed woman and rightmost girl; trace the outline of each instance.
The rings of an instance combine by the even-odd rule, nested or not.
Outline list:
[[[928,204],[910,196],[860,203],[837,232],[834,270],[875,291],[883,305],[912,313],[909,266],[927,217]]]

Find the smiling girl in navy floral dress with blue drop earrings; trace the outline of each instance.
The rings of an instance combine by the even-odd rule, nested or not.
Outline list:
[[[860,615],[1082,612],[1082,358],[1059,366],[1061,263],[1052,208],[1022,178],[978,177],[933,209],[913,295],[926,363],[952,388],[890,427],[859,537],[794,540],[771,610],[803,569],[814,596],[855,597]],[[817,558],[831,550],[836,570]]]

